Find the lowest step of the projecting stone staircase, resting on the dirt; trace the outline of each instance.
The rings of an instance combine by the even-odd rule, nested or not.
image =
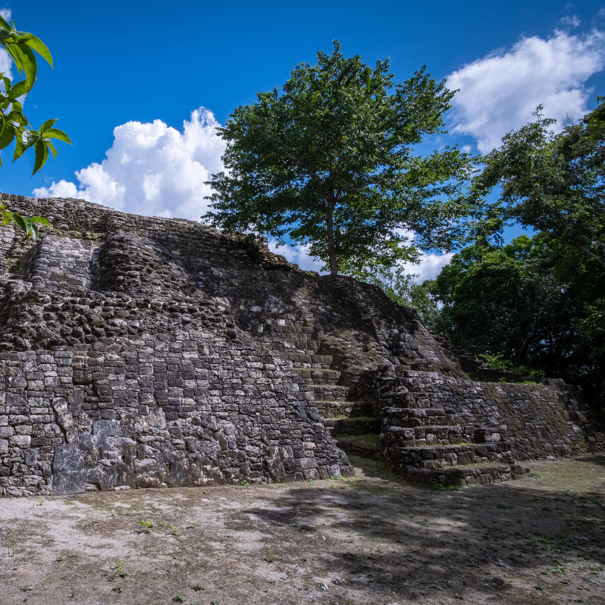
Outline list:
[[[465,487],[485,483],[521,479],[529,473],[528,468],[518,464],[485,463],[473,466],[449,466],[439,469],[422,469],[407,466],[401,473],[413,483],[427,485],[434,489],[448,486]]]

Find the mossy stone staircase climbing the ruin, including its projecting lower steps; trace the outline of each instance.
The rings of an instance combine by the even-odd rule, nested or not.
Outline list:
[[[407,393],[392,378],[379,381],[381,393],[374,402],[352,397],[355,389],[345,384],[333,356],[319,353],[322,326],[301,309],[284,301],[273,308],[261,292],[258,296],[248,293],[246,304],[238,305],[224,284],[222,290],[238,325],[268,355],[292,362],[298,376],[294,388],[307,393],[307,401],[317,408],[317,420],[321,419],[345,453],[387,459],[398,473],[429,486],[476,485],[525,473],[515,464],[510,443],[488,441],[486,436],[493,434],[488,428],[465,424],[443,401]],[[393,342],[390,345],[393,348]]]

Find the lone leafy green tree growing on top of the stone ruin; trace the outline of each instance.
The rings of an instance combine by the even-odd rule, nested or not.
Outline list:
[[[372,70],[334,41],[316,65],[296,66],[281,94],[238,107],[219,129],[226,171],[209,181],[204,220],[309,244],[332,275],[368,275],[462,240],[469,158],[456,148],[414,154],[444,132],[454,93],[424,68],[398,84],[388,72],[388,59]]]

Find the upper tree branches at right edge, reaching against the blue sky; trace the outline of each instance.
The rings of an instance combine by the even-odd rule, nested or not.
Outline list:
[[[605,97],[600,105],[563,132],[542,116],[509,132],[502,146],[483,158],[473,194],[486,198],[495,186],[495,202],[477,205],[482,235],[498,234],[517,222],[549,232],[605,269]]]

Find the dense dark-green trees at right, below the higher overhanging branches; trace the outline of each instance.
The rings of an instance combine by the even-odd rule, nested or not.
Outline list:
[[[454,344],[502,356],[580,387],[605,404],[605,296],[597,260],[547,232],[502,248],[477,243],[433,282]]]

